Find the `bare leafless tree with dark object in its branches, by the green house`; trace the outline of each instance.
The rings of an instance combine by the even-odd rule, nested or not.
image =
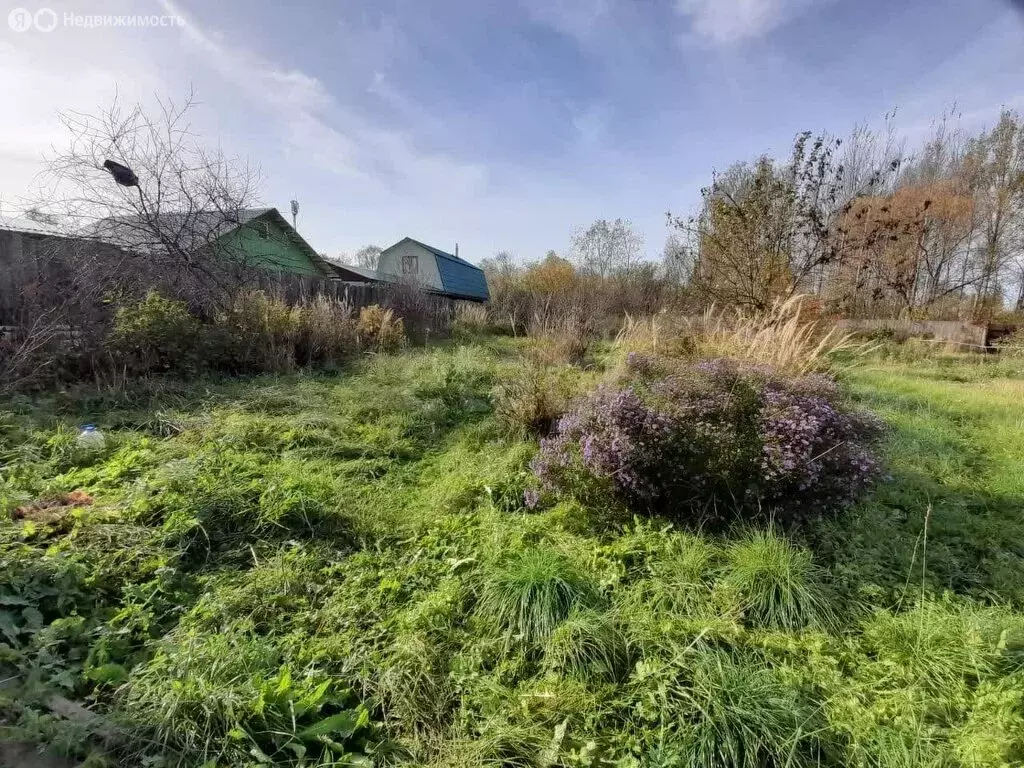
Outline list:
[[[189,94],[154,114],[118,101],[95,115],[62,114],[71,137],[49,162],[49,209],[82,237],[117,246],[134,262],[125,276],[222,299],[251,266],[224,234],[251,217],[259,173],[200,143],[195,108]]]

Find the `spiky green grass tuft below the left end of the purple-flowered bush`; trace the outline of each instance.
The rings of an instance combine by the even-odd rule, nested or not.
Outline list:
[[[508,644],[544,643],[574,608],[597,602],[597,590],[563,555],[548,548],[527,550],[494,566],[485,575],[480,612]]]

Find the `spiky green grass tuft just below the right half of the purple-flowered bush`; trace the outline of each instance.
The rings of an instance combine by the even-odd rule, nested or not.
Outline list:
[[[836,623],[820,577],[809,551],[768,528],[750,531],[727,548],[717,587],[735,596],[748,624],[799,630]]]

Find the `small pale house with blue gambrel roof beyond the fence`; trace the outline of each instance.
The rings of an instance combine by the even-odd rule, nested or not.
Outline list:
[[[412,238],[403,238],[381,251],[377,272],[385,281],[415,282],[431,293],[453,299],[487,301],[490,298],[480,267]]]

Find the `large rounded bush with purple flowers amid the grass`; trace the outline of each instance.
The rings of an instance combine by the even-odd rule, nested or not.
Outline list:
[[[543,493],[676,517],[793,519],[849,503],[877,472],[880,422],[844,409],[827,376],[716,359],[652,380],[636,364],[624,388],[599,388],[541,441]]]

